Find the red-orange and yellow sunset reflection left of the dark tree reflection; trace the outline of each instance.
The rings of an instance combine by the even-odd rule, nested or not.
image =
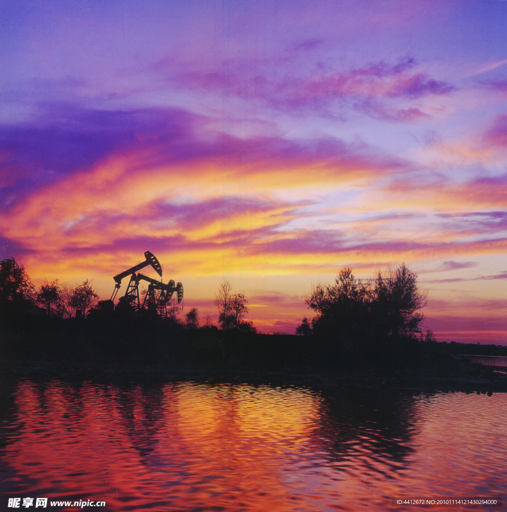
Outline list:
[[[23,422],[11,481],[29,496],[104,499],[114,510],[287,510],[300,501],[283,457],[308,442],[316,398],[296,390],[167,385],[79,389],[29,382],[17,392]],[[290,395],[290,396],[286,396]],[[46,490],[47,489],[47,490]]]

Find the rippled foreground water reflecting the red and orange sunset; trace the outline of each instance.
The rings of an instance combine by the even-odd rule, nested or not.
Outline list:
[[[47,497],[106,510],[355,511],[505,494],[505,394],[30,380],[4,392],[1,509]]]

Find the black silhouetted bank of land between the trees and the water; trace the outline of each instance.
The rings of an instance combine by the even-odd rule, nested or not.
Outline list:
[[[3,326],[0,379],[507,392],[507,374],[495,372],[507,370],[474,364],[469,355],[505,356],[507,348],[401,336],[341,343],[188,329],[160,318],[26,318]]]

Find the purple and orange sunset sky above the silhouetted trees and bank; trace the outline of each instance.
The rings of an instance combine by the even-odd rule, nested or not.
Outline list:
[[[0,258],[106,299],[149,250],[187,311],[226,279],[289,333],[404,262],[424,329],[507,345],[506,33],[501,0],[0,0]]]

